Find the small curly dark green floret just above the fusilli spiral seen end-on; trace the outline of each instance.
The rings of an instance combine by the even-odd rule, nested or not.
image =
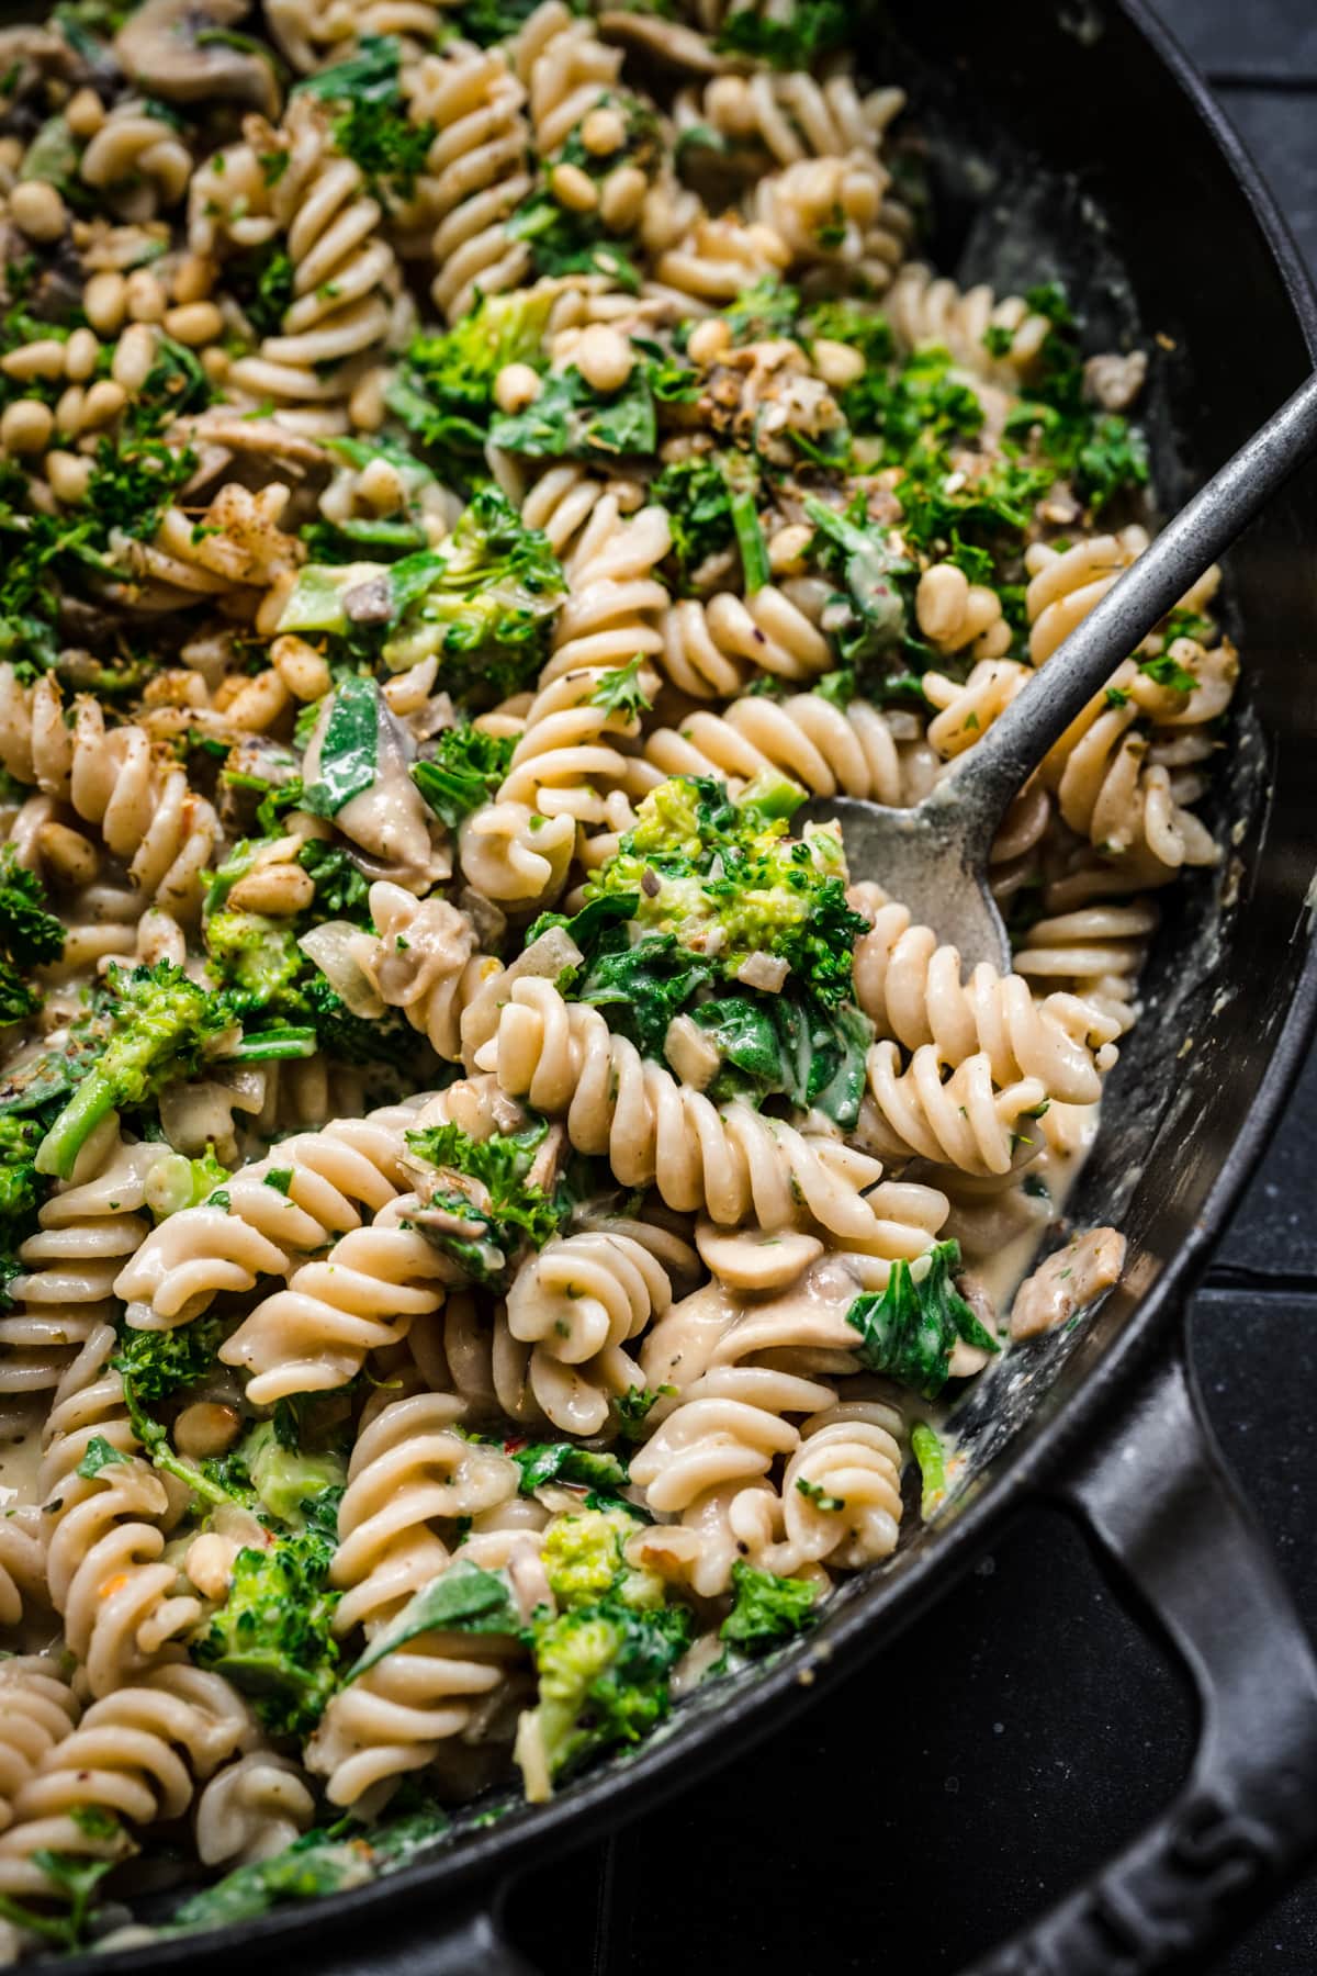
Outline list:
[[[525,1180],[545,1132],[537,1118],[490,1138],[472,1138],[456,1124],[407,1134],[411,1150],[438,1168],[425,1197],[442,1223],[426,1223],[426,1233],[476,1282],[502,1282],[521,1247],[543,1249],[571,1211],[565,1188],[549,1195]]]

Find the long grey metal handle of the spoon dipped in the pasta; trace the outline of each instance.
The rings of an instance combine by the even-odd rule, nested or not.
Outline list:
[[[1317,445],[1317,373],[1175,516],[944,782],[983,840],[1092,696]],[[971,814],[968,814],[971,812]]]

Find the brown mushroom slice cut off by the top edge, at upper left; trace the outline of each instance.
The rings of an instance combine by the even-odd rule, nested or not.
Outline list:
[[[223,38],[247,14],[247,0],[146,0],[115,36],[128,77],[166,103],[245,103],[278,115],[272,61]]]

